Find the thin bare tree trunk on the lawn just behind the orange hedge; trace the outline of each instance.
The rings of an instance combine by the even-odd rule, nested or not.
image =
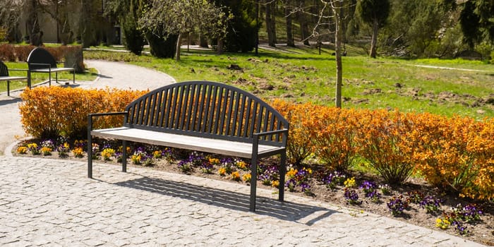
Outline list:
[[[335,2],[337,8],[334,9],[335,13],[335,57],[336,57],[336,93],[335,93],[335,106],[342,107],[342,77],[343,77],[343,65],[342,65],[342,16],[340,16],[339,8],[341,3]]]

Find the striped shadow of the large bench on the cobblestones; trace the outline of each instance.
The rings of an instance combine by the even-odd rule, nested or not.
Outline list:
[[[194,200],[207,205],[226,207],[231,210],[247,212],[249,207],[249,195],[224,191],[217,188],[197,186],[191,183],[143,177],[115,184],[118,186],[178,197],[185,200]],[[288,201],[280,202],[278,200],[260,196],[257,197],[256,205],[255,213],[258,215],[267,215],[291,222],[300,221],[299,223],[307,225],[312,225],[320,219],[329,217],[337,212],[324,207],[303,205]]]

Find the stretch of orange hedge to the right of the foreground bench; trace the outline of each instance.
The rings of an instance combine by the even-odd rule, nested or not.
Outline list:
[[[388,183],[402,183],[415,172],[443,191],[494,198],[494,119],[280,100],[272,105],[289,119],[287,149],[293,164],[315,154],[327,169],[344,171],[359,158]]]

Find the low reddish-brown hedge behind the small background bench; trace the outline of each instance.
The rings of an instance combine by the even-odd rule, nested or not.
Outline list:
[[[1,61],[28,61],[28,56],[32,49],[36,47],[33,45],[14,45],[14,44],[0,44],[0,59]],[[56,61],[63,61],[66,54],[74,53],[74,50],[82,49],[81,46],[60,46],[60,47],[43,47],[54,56]]]

